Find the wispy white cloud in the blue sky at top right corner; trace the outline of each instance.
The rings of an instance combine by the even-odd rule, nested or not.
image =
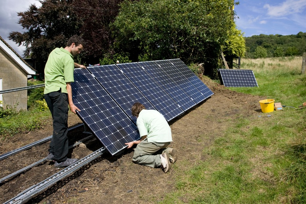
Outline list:
[[[267,9],[267,14],[271,17],[287,16],[303,12],[306,8],[306,0],[286,0],[277,6],[265,4],[263,8]]]

